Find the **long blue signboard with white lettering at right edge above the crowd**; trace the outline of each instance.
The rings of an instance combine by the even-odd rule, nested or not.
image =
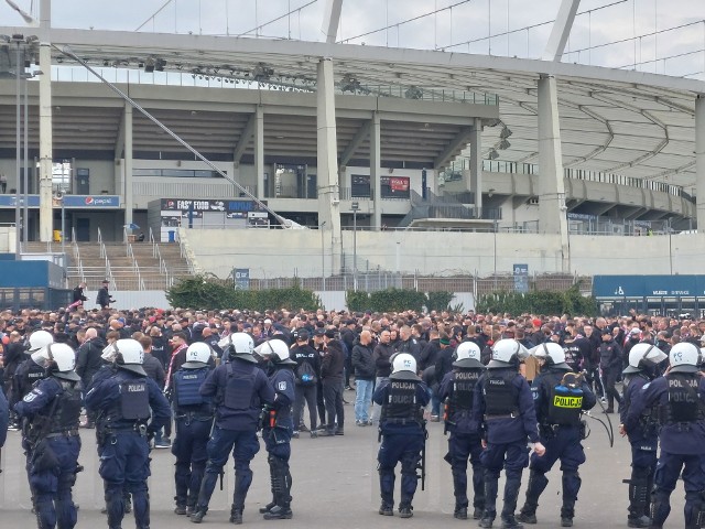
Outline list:
[[[705,276],[595,276],[595,298],[705,296]]]

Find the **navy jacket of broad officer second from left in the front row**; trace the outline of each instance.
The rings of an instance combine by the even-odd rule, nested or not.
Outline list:
[[[147,428],[147,433],[151,434],[171,418],[169,401],[151,378],[120,366],[111,376],[96,378],[86,393],[86,408],[99,412],[107,429],[135,431],[135,427],[145,424],[151,414]]]

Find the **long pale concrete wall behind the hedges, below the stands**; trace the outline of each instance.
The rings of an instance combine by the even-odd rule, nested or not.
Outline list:
[[[330,274],[330,238],[318,230],[188,230],[182,228],[196,263],[227,277],[249,268],[253,278]],[[571,236],[571,272],[577,274],[702,273],[705,235],[649,237]],[[352,256],[352,231],[343,233],[343,251]],[[323,256],[323,258],[322,258]],[[558,236],[443,231],[358,231],[358,270],[455,273],[561,272]],[[351,259],[348,261],[351,262]]]

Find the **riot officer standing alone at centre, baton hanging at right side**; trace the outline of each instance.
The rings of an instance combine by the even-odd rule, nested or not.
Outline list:
[[[409,353],[392,356],[392,373],[375,390],[372,401],[382,407],[379,423],[382,444],[379,462],[379,514],[393,516],[394,467],[401,462],[401,501],[399,516],[411,518],[419,476],[416,468],[425,443],[423,408],[429,403],[429,387],[416,376],[416,360]]]

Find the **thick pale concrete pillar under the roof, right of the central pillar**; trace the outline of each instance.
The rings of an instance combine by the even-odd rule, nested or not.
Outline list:
[[[558,99],[553,76],[539,79],[539,231],[561,236],[561,271],[570,272]]]

